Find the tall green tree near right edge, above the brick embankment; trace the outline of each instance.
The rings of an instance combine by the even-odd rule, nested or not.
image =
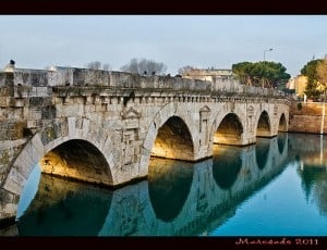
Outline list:
[[[319,91],[319,78],[317,73],[317,66],[322,62],[322,59],[316,59],[307,62],[301,70],[301,75],[307,77],[307,84],[305,87],[305,95],[311,99],[318,99],[320,96]]]

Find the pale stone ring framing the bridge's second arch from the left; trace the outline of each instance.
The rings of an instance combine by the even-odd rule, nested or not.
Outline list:
[[[172,120],[170,120],[172,118]],[[170,120],[170,121],[169,121]],[[184,157],[175,155],[169,157],[165,153],[160,155],[159,152],[156,153],[156,157],[165,157],[165,158],[171,158],[171,159],[178,159],[178,160],[185,160],[185,161],[196,161],[197,160],[197,148],[198,145],[195,142],[193,135],[196,134],[194,130],[195,126],[193,125],[193,118],[190,115],[190,112],[187,112],[186,105],[180,104],[175,107],[175,103],[168,103],[165,107],[162,107],[154,116],[153,122],[150,123],[147,134],[145,136],[145,140],[143,143],[143,150],[141,152],[141,165],[140,165],[140,176],[147,176],[148,173],[148,164],[149,164],[149,158],[152,155],[153,147],[155,145],[155,141],[158,136],[159,128],[161,128],[167,122],[169,122],[168,126],[173,124],[174,122],[179,122],[183,124],[183,128],[186,128],[186,133],[189,135],[187,142],[192,143],[192,151],[191,146],[187,147],[186,153],[184,153]],[[171,128],[171,126],[170,126]],[[164,128],[165,129],[165,128]],[[179,130],[178,127],[173,128]],[[168,129],[167,129],[168,130]],[[172,132],[173,133],[173,132]]]

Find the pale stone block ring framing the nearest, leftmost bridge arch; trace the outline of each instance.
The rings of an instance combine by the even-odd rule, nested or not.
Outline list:
[[[1,192],[5,193],[12,201],[7,202],[10,205],[7,205],[8,208],[4,209],[3,214],[0,214],[0,217],[15,216],[21,192],[36,164],[52,149],[70,140],[87,141],[87,145],[92,145],[93,149],[100,152],[99,155],[102,158],[100,162],[107,163],[106,178],[99,180],[88,176],[87,182],[108,186],[119,183],[116,178],[117,175],[113,173],[114,163],[112,161],[110,135],[86,118],[80,122],[75,117],[56,120],[36,132],[13,162],[1,187]],[[65,177],[70,177],[70,174],[68,173]]]

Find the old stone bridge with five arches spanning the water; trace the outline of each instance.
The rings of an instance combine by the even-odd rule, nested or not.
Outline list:
[[[150,157],[196,162],[214,143],[247,146],[287,132],[290,100],[274,89],[170,76],[57,67],[0,73],[0,221],[44,173],[119,186]]]

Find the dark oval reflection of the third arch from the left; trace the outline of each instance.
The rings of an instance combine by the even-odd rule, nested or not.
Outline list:
[[[230,189],[242,168],[241,147],[219,145],[214,147],[213,176],[216,184],[225,190]]]

